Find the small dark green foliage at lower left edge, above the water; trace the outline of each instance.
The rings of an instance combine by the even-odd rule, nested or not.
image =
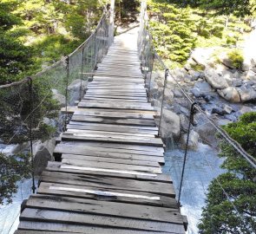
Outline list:
[[[12,195],[17,192],[16,182],[21,179],[29,179],[30,172],[30,157],[25,155],[7,156],[0,153],[0,205],[12,202]]]

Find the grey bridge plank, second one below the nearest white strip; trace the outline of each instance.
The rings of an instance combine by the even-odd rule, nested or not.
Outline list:
[[[95,226],[106,226],[112,228],[136,229],[142,231],[174,231],[181,232],[182,226],[179,224],[169,224],[164,222],[149,222],[147,220],[131,220],[130,218],[114,218],[102,215],[89,215],[80,213],[70,213],[67,211],[50,211],[27,208],[23,211],[21,220],[26,221],[49,221],[65,224],[94,224]],[[182,232],[181,232],[182,233]]]

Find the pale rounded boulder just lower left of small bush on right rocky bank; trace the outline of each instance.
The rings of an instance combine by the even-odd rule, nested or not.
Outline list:
[[[215,69],[207,67],[205,69],[205,76],[207,79],[207,82],[216,89],[222,89],[222,88],[227,88],[228,83],[222,76],[222,74],[219,72],[217,73]]]

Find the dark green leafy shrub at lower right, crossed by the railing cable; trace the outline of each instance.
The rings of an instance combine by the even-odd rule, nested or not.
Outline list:
[[[256,113],[243,114],[238,122],[224,129],[256,158]],[[253,233],[256,230],[256,170],[225,140],[220,141],[220,149],[220,157],[225,158],[222,167],[227,172],[213,179],[208,188],[200,233]]]

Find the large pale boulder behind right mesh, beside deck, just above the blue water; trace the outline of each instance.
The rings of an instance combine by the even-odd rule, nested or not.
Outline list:
[[[162,138],[177,138],[181,134],[181,121],[178,114],[163,109],[161,119],[161,137]]]

